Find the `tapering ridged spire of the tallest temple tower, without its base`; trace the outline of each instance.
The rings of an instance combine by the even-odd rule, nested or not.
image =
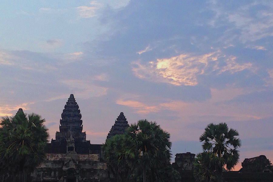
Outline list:
[[[81,133],[83,130],[83,121],[81,118],[82,115],[80,113],[79,106],[76,103],[74,95],[71,94],[62,112],[60,132]]]

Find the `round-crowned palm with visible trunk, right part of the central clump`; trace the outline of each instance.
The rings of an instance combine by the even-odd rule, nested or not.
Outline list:
[[[170,134],[156,122],[148,120],[131,124],[128,131],[123,142],[124,146],[129,147],[126,154],[137,159],[135,165],[142,169],[143,182],[146,182],[148,170],[160,169],[170,163]],[[153,175],[149,176],[153,178]]]

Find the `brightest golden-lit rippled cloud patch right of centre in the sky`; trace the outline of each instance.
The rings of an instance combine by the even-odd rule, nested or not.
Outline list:
[[[225,66],[220,66],[218,59],[224,59]],[[141,64],[139,61],[132,62],[133,72],[140,79],[154,82],[170,83],[173,85],[194,86],[198,84],[197,76],[210,74],[211,72],[228,71],[230,74],[252,69],[251,63],[239,64],[235,61],[236,57],[221,54],[220,51],[210,52],[201,56],[191,56],[181,54],[171,58],[157,59],[156,62]]]

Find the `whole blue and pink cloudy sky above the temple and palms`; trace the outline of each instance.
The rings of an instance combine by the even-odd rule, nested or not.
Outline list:
[[[37,113],[55,139],[73,93],[91,143],[123,112],[168,131],[173,157],[226,122],[239,170],[273,161],[272,47],[271,0],[1,0],[0,116]]]

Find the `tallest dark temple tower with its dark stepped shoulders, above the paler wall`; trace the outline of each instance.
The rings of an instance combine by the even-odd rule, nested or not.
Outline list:
[[[100,153],[101,145],[90,144],[86,141],[86,133],[83,131],[83,120],[74,95],[71,94],[66,102],[60,120],[60,131],[56,132],[56,140],[47,144],[47,153],[67,153],[75,151],[79,154]]]

